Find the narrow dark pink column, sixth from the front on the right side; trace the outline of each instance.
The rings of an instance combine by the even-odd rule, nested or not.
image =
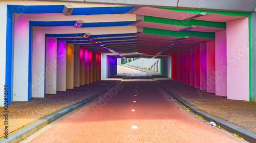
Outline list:
[[[189,49],[189,85],[195,86],[195,48]]]

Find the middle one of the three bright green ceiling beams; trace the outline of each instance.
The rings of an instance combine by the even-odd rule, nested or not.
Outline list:
[[[226,22],[212,22],[212,21],[194,20],[194,19],[191,19],[189,21],[184,21],[184,20],[168,19],[168,18],[161,18],[161,17],[144,16],[144,21],[171,24],[171,25],[180,25],[180,26],[187,26],[187,27],[190,27],[192,25],[197,25],[197,26],[207,26],[207,27],[216,27],[216,28],[226,28]]]

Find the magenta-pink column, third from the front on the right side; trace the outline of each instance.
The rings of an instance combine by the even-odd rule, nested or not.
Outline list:
[[[215,40],[206,42],[207,92],[215,93]]]

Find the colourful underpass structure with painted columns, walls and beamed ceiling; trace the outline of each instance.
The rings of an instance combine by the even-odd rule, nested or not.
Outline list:
[[[255,12],[249,5],[1,3],[7,104],[114,76],[120,58],[160,59],[163,76],[227,99],[254,101]]]

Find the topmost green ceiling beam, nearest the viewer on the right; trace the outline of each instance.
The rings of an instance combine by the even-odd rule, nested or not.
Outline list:
[[[173,10],[173,11],[180,11],[180,12],[188,12],[188,13],[195,13],[200,14],[201,12],[207,13],[215,13],[215,14],[223,14],[223,15],[231,15],[231,16],[244,16],[249,17],[250,13],[247,12],[231,12],[231,11],[213,11],[213,10],[198,10],[198,9],[176,9],[176,8],[158,8],[157,9],[164,9],[164,10]]]

